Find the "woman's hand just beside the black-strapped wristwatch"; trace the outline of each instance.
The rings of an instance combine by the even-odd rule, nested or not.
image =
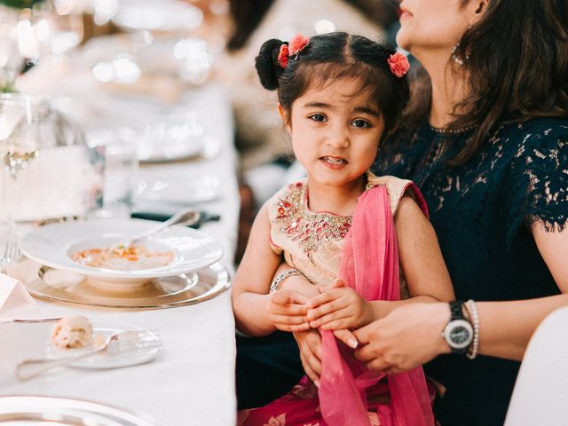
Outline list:
[[[354,331],[355,357],[375,371],[396,374],[450,351],[440,335],[450,319],[448,304],[406,304]]]

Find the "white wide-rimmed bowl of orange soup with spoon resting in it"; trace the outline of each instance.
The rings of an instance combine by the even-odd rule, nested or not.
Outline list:
[[[40,264],[77,272],[92,280],[111,280],[134,284],[158,277],[198,271],[217,262],[223,255],[221,245],[206,233],[181,225],[170,226],[144,241],[150,250],[170,250],[174,260],[153,269],[119,271],[75,263],[71,256],[87,248],[106,248],[136,238],[159,225],[142,219],[89,219],[45,225],[24,235],[21,252]]]

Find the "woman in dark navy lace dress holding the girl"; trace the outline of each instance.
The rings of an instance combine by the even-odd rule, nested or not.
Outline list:
[[[391,373],[434,359],[425,372],[445,391],[435,402],[442,426],[502,424],[530,336],[568,304],[568,23],[560,12],[568,4],[405,0],[400,8],[397,42],[425,74],[409,133],[383,145],[375,172],[422,190],[456,297],[483,301],[478,355],[434,359],[451,351],[440,336],[447,304],[396,309],[355,332],[356,353]],[[294,277],[286,281],[294,286]],[[317,379],[319,335],[295,335]]]

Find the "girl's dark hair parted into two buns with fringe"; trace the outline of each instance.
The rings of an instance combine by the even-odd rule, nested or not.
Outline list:
[[[383,114],[383,138],[396,130],[402,110],[409,98],[406,76],[390,71],[390,55],[394,48],[375,43],[363,36],[336,32],[313,36],[310,43],[288,65],[280,67],[278,54],[282,44],[272,39],[265,42],[256,57],[260,82],[268,90],[277,90],[280,105],[288,121],[292,103],[311,87],[341,79],[359,79],[361,90],[368,90]]]

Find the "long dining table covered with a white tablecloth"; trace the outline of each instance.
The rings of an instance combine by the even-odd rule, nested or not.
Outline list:
[[[177,185],[176,191],[183,194],[184,184],[210,177],[217,182],[216,192],[203,200],[186,202],[183,196],[163,201],[137,198],[135,193],[130,210],[168,216],[182,207],[194,206],[218,216],[218,220],[201,223],[199,232],[211,235],[223,248],[219,264],[230,282],[240,199],[233,114],[224,87],[215,82],[196,84],[164,99],[155,91],[132,91],[128,86],[101,83],[93,77],[90,64],[69,63],[30,70],[20,78],[19,90],[49,95],[86,134],[99,128],[136,127],[156,116],[184,111],[191,111],[201,123],[208,140],[204,153],[198,158],[141,164],[137,178],[154,182],[159,178]],[[111,214],[105,220],[114,217]],[[16,366],[23,359],[45,356],[45,336],[54,324],[0,320],[0,399],[46,396],[88,400],[163,426],[235,424],[235,325],[230,288],[200,303],[162,309],[96,307],[42,297],[34,300],[37,317],[83,315],[93,325],[152,330],[162,340],[162,351],[155,359],[134,366],[63,367],[21,381],[15,374]]]

